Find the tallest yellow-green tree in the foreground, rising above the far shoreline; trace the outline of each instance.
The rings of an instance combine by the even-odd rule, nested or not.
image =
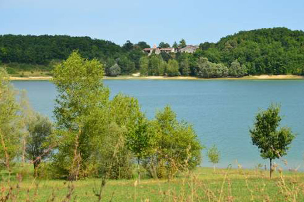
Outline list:
[[[103,66],[96,60],[81,58],[74,51],[54,69],[54,84],[58,95],[54,115],[58,129],[58,152],[54,165],[59,173],[77,180],[89,167],[92,148],[90,134],[83,128],[93,111],[105,106],[109,90],[102,83]]]

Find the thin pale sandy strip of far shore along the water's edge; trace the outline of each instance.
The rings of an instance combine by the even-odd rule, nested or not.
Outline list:
[[[30,76],[30,77],[10,77],[11,81],[35,81],[35,80],[51,80],[51,76]],[[145,80],[288,80],[288,79],[304,79],[303,76],[296,75],[257,75],[257,76],[245,76],[240,78],[225,77],[225,78],[197,78],[192,76],[138,76],[127,75],[118,77],[105,76],[104,79],[145,79]]]

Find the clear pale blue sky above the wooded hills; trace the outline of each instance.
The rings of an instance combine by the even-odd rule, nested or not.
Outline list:
[[[122,45],[216,42],[241,30],[304,29],[303,0],[0,0],[0,34],[71,35]]]

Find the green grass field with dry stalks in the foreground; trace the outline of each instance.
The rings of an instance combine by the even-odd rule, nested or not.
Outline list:
[[[67,182],[19,172],[29,177],[16,178],[15,171],[8,183],[7,173],[1,172],[2,196],[9,192],[10,186],[12,196],[16,196],[16,200],[8,201],[99,201],[101,179]],[[269,171],[260,169],[213,172],[212,168],[199,167],[170,181],[143,179],[137,184],[135,179],[109,180],[102,187],[100,201],[304,201],[304,173],[277,171],[272,179],[268,175]]]

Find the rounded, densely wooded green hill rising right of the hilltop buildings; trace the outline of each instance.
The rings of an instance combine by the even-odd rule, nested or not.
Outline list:
[[[209,61],[230,65],[235,59],[247,67],[250,75],[302,74],[304,68],[304,32],[287,28],[240,31],[221,38],[216,44],[200,44]]]

